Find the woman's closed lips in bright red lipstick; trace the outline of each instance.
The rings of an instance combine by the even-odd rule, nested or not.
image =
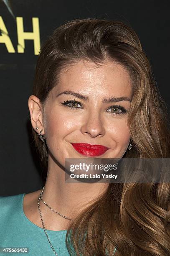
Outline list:
[[[91,145],[88,143],[71,143],[71,145],[84,156],[100,156],[109,149],[102,145]]]

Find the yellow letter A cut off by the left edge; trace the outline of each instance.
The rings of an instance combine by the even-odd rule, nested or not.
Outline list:
[[[5,44],[8,52],[15,53],[15,49],[10,40],[10,37],[8,36],[8,31],[5,27],[2,16],[0,16],[0,30],[2,31],[2,33],[1,33],[2,35],[0,36],[0,43]]]

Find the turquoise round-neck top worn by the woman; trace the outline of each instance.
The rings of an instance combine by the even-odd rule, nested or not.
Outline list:
[[[24,195],[25,193],[0,197],[0,247],[28,247],[29,253],[0,253],[0,256],[55,255],[43,228],[38,227],[26,217],[23,211]],[[65,243],[67,230],[46,230],[46,232],[58,256],[69,256]]]

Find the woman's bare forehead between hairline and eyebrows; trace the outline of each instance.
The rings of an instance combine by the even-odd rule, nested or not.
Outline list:
[[[72,63],[60,74],[57,92],[74,90],[86,95],[131,97],[132,84],[127,70],[115,61],[98,66],[92,61]]]

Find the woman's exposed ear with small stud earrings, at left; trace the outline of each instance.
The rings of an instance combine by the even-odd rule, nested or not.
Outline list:
[[[28,108],[30,110],[30,120],[33,129],[38,133],[42,130],[41,134],[45,133],[43,126],[43,108],[40,100],[35,95],[31,95],[28,99]],[[39,129],[37,130],[36,127]]]

